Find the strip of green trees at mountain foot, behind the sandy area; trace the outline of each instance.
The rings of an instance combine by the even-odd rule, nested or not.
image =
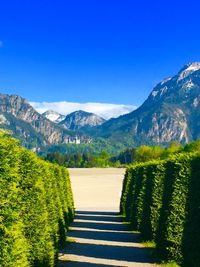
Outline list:
[[[182,152],[200,151],[200,141],[180,145],[172,142],[168,147],[146,146],[126,149],[117,156],[111,156],[106,150],[101,153],[91,153],[83,151],[77,153],[69,152],[49,152],[43,155],[45,160],[57,163],[68,168],[91,168],[91,167],[126,167],[129,164],[146,162],[152,159],[166,159],[171,155]]]

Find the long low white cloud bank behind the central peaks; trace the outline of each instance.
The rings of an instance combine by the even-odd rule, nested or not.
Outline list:
[[[134,109],[132,105],[117,105],[107,103],[73,103],[73,102],[30,102],[30,104],[39,112],[54,110],[60,114],[67,115],[77,110],[84,110],[95,113],[105,119],[116,118],[120,115],[127,114]]]

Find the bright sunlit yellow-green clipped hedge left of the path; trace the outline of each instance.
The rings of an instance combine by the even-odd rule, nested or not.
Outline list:
[[[0,136],[0,266],[55,266],[74,216],[68,171]]]

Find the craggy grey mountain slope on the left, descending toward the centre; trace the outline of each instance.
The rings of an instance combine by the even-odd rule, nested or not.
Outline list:
[[[39,114],[24,98],[0,94],[0,128],[13,132],[23,145],[87,142],[87,137],[67,131]]]

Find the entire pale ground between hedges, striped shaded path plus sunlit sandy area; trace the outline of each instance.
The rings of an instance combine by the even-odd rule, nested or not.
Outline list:
[[[117,215],[124,170],[73,169],[70,174],[77,211],[58,266],[155,266],[139,234]]]

